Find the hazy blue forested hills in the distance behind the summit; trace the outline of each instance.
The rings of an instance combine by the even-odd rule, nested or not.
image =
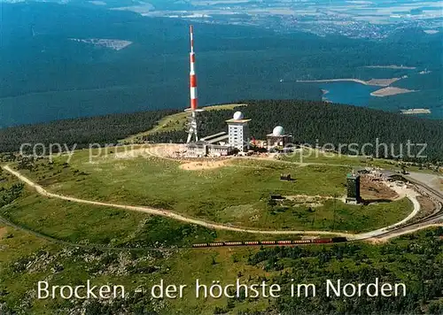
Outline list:
[[[145,18],[99,5],[19,3],[2,4],[2,10],[0,127],[187,106],[187,21]],[[442,68],[439,34],[418,32],[372,42],[277,34],[259,27],[198,24],[195,29],[202,105],[239,98],[315,101],[322,97],[320,88],[295,81],[410,74],[406,69],[365,65],[412,65],[417,72],[428,69],[435,75]],[[132,43],[113,50],[90,39]],[[441,106],[441,92],[421,79],[408,81],[421,84],[415,89],[422,91],[408,97],[408,103]],[[371,106],[404,109],[395,100],[392,96]]]

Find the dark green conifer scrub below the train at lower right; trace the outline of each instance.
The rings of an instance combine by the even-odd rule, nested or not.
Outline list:
[[[249,265],[260,266],[279,275],[269,283],[291,292],[294,284],[315,284],[316,296],[282,295],[270,308],[281,314],[442,314],[443,228],[374,247],[362,243],[312,247],[261,249],[249,257]],[[406,242],[405,242],[406,241]],[[327,297],[326,280],[336,283],[404,283],[406,296]],[[292,280],[293,281],[292,281]],[[373,292],[373,290],[371,290]],[[400,290],[401,293],[401,290]]]

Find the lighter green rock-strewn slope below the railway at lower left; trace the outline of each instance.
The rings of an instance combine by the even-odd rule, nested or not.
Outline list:
[[[5,293],[0,296],[0,303],[20,305],[20,309],[27,310],[27,313],[45,314],[48,311],[45,311],[45,308],[48,307],[52,310],[56,308],[60,311],[66,308],[72,311],[79,309],[82,304],[82,301],[75,299],[35,300],[30,293],[35,292],[37,281],[46,279],[53,285],[80,284],[86,280],[91,280],[96,285],[123,285],[130,297],[127,302],[120,303],[126,304],[127,308],[136,309],[143,303],[145,311],[155,310],[162,314],[169,313],[173,307],[179,312],[192,310],[212,314],[214,307],[226,305],[226,299],[208,303],[209,301],[195,299],[188,292],[183,299],[159,300],[151,304],[147,297],[134,297],[133,291],[139,286],[148,288],[154,283],[159,283],[159,280],[164,280],[167,284],[190,286],[197,278],[210,284],[213,279],[234,281],[237,272],[252,277],[264,274],[260,268],[245,265],[245,256],[251,252],[248,249],[239,249],[236,253],[230,253],[228,250],[108,252],[51,244],[32,234],[2,225],[0,230],[4,231],[4,234],[0,235],[0,290]],[[233,270],[237,272],[233,273]],[[89,301],[85,304],[89,309],[87,313],[97,313],[93,311],[94,307],[97,307],[94,303],[97,302]],[[131,303],[132,305],[129,305]],[[255,303],[258,309],[266,305],[265,300]],[[239,305],[239,309],[245,306]]]

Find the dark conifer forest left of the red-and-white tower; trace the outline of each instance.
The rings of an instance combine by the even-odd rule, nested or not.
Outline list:
[[[51,143],[59,143],[63,150],[88,148],[89,144],[117,143],[131,134],[151,129],[159,119],[176,110],[142,111],[90,118],[56,120],[37,125],[24,125],[0,129],[0,152],[16,152],[24,143],[25,150],[48,152]],[[58,146],[53,146],[58,150]]]

